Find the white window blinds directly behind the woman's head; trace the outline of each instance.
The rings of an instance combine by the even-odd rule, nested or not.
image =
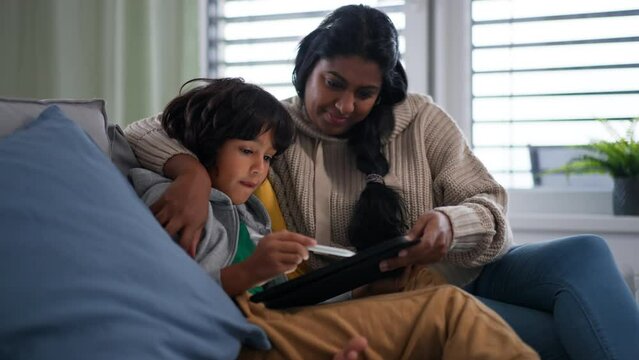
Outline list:
[[[358,1],[386,12],[404,51],[404,1]],[[297,45],[331,11],[351,1],[209,0],[208,73],[242,77],[279,99],[295,95],[291,85]]]

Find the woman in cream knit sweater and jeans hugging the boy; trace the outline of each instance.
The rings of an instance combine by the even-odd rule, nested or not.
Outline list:
[[[366,6],[330,14],[300,43],[293,83],[298,97],[284,105],[298,136],[269,174],[290,230],[358,248],[407,232],[420,244],[383,270],[428,265],[485,301],[542,357],[639,353],[637,307],[602,239],[511,249],[504,189],[442,109],[406,94],[386,15]],[[156,125],[126,133],[145,167],[176,178],[153,210],[194,249],[210,187],[204,169]],[[307,265],[325,262],[314,255]],[[384,291],[401,291],[398,283]]]

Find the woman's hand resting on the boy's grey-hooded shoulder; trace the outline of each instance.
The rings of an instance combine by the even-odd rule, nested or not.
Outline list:
[[[179,245],[195,257],[208,216],[211,179],[204,166],[186,154],[169,159],[164,173],[175,180],[151,211],[171,236],[179,234]]]

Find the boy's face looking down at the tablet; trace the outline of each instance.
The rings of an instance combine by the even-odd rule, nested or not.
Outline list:
[[[227,140],[209,169],[211,185],[225,193],[233,204],[243,204],[266,179],[275,155],[269,130],[254,140]]]

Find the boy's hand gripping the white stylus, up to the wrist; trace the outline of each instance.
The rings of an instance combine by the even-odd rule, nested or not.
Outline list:
[[[295,270],[308,259],[306,247],[313,245],[316,245],[315,240],[308,236],[286,230],[274,232],[257,243],[255,252],[245,263],[259,283]]]

